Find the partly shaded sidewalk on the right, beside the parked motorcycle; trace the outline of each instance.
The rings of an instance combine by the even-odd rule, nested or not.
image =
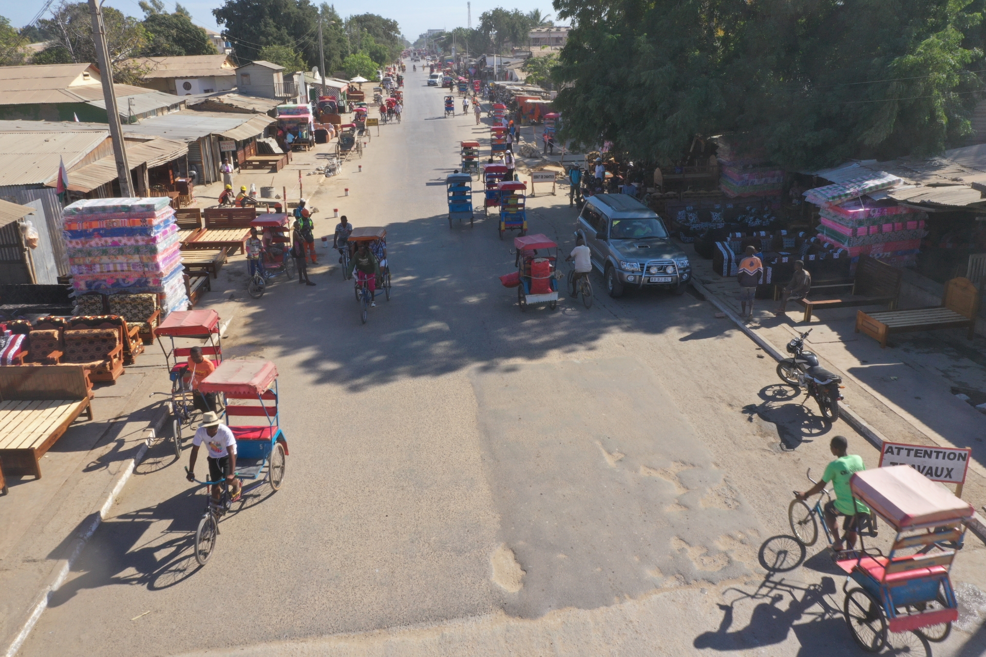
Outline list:
[[[736,280],[715,274],[712,261],[697,255],[691,244],[680,246],[705,294],[739,315]],[[753,318],[746,322],[751,333],[784,354],[792,338],[811,329],[806,346],[824,367],[842,375],[845,405],[887,439],[972,448],[962,498],[982,513],[986,415],[972,402],[986,399],[966,395],[967,403],[955,393],[986,390],[986,339],[968,341],[965,332],[957,330],[908,333],[894,336],[886,349],[880,349],[877,341],[855,332],[857,310],[880,309],[877,306],[823,310],[820,317],[812,316],[810,324],[802,321],[802,306],[789,303],[786,314],[775,317],[777,306],[771,299],[755,301]]]

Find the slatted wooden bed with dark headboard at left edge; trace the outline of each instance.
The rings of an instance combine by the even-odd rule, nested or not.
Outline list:
[[[83,411],[93,419],[82,366],[0,367],[3,473],[40,479],[39,459]]]

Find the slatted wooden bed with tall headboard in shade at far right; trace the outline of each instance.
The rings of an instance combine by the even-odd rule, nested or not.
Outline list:
[[[951,279],[945,284],[942,305],[911,310],[856,313],[856,332],[862,331],[886,347],[891,333],[913,333],[948,328],[968,328],[969,340],[975,334],[976,314],[979,312],[979,291],[965,278]]]

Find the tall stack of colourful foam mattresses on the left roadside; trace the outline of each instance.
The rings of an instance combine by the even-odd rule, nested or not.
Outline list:
[[[84,199],[63,215],[78,294],[155,293],[163,313],[187,307],[175,211],[167,197]]]

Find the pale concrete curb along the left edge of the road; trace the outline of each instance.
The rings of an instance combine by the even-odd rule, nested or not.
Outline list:
[[[17,636],[9,646],[7,646],[6,652],[3,653],[4,657],[14,657],[24,642],[31,635],[31,630],[35,628],[35,624],[40,620],[41,614],[48,606],[48,598],[52,593],[58,590],[58,588],[65,583],[65,579],[68,578],[68,573],[72,571],[72,566],[75,564],[76,559],[82,554],[85,549],[86,544],[89,543],[89,539],[92,538],[93,534],[99,528],[100,524],[103,522],[104,518],[109,514],[109,510],[112,508],[113,503],[120,493],[123,492],[123,487],[130,480],[130,476],[133,474],[134,469],[140,465],[140,462],[144,460],[144,455],[147,454],[147,449],[151,444],[158,431],[165,426],[165,421],[168,419],[168,413],[162,412],[159,414],[157,420],[151,423],[150,427],[144,429],[144,441],[137,449],[137,453],[134,454],[133,458],[127,459],[123,462],[123,468],[116,474],[113,479],[113,487],[106,495],[106,500],[93,513],[93,519],[90,523],[82,530],[82,532],[76,536],[72,541],[71,548],[69,549],[68,555],[64,558],[60,558],[56,563],[54,570],[52,571],[52,576],[50,582],[45,585],[41,592],[37,595],[35,599],[35,604],[31,607],[31,614],[25,620],[24,624],[21,625],[20,631],[18,631]]]

